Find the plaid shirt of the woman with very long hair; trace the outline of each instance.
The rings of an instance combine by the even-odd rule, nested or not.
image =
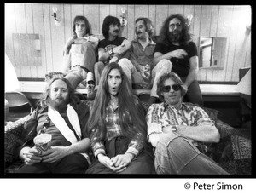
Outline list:
[[[127,114],[129,115],[128,111],[127,111]],[[130,120],[131,120],[131,118],[130,118]],[[107,136],[106,136],[107,141],[110,141],[115,137],[124,136],[122,133],[121,126],[119,124],[118,107],[115,110],[113,110],[113,106],[111,106],[110,103],[107,106],[106,129],[107,129]],[[126,152],[131,152],[132,154],[137,156],[138,153],[143,149],[142,136],[143,135],[140,133],[135,135],[134,138],[131,139],[131,142],[128,146],[128,150]],[[97,155],[99,153],[106,155],[105,146],[103,144],[103,141],[96,142],[96,144],[92,146],[92,150],[94,152],[95,157],[97,157]]]

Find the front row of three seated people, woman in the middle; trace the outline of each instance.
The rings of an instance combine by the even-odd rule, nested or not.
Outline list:
[[[116,62],[104,68],[91,107],[66,78],[53,78],[26,121],[18,173],[228,174],[198,149],[218,142],[218,129],[200,107],[183,103],[177,74],[161,76],[157,93],[163,102],[146,114]],[[46,152],[33,146],[42,129],[52,135]]]

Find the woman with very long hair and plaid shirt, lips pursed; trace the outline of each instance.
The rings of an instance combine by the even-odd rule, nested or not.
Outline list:
[[[102,72],[87,131],[95,162],[88,174],[154,174],[145,111],[118,63]]]

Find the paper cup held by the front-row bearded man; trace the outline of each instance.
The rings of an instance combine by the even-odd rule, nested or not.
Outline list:
[[[34,138],[34,144],[38,152],[44,152],[50,148],[51,135],[49,134],[40,134]]]

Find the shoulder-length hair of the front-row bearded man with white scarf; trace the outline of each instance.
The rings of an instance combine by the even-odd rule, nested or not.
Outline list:
[[[42,106],[42,107],[48,106],[51,85],[57,80],[61,80],[67,84],[68,103],[73,105],[78,104],[80,102],[80,99],[77,95],[75,95],[75,91],[72,88],[69,81],[65,77],[54,77],[51,80],[49,80],[49,83],[47,83],[44,94],[42,95],[42,98],[38,102],[39,106]]]

